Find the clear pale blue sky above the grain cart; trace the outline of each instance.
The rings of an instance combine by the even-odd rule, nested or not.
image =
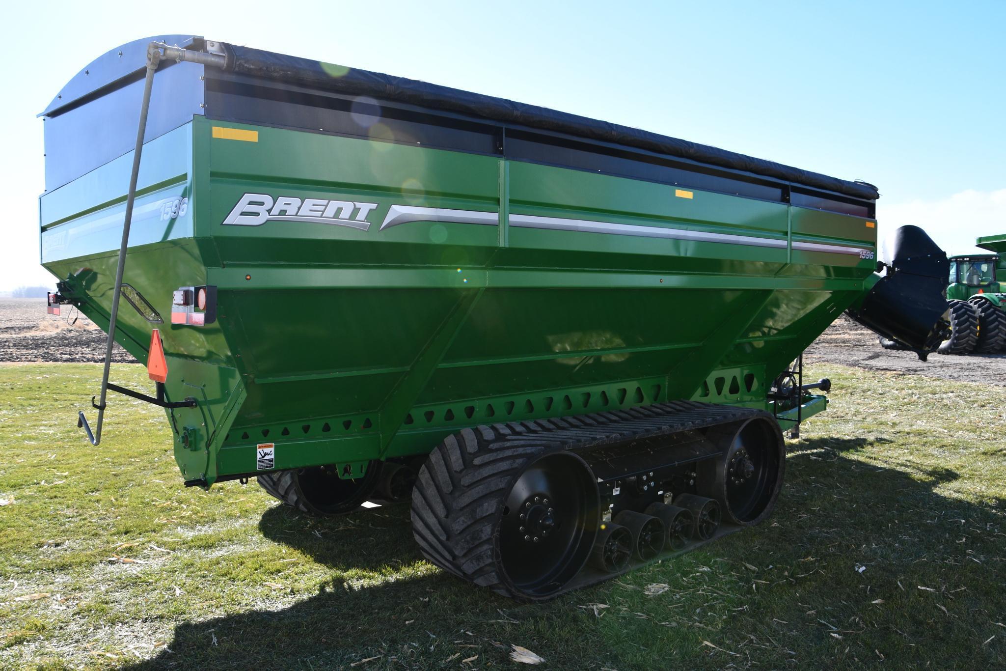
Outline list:
[[[35,119],[90,60],[195,33],[425,79],[880,188],[880,230],[1006,232],[1006,3],[18,3],[6,10],[0,291],[37,265]],[[193,9],[197,7],[197,9]]]

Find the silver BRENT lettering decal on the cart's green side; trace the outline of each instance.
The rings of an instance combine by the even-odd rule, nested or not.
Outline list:
[[[245,193],[223,220],[223,225],[261,226],[267,221],[307,221],[352,226],[360,230],[370,227],[367,216],[377,207],[375,202],[293,198],[265,193]]]

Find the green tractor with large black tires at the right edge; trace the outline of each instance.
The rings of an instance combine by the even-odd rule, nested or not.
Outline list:
[[[975,244],[991,251],[1006,250],[1006,234],[979,237]],[[951,336],[943,354],[994,354],[1006,348],[1006,294],[996,273],[1006,271],[998,254],[966,255],[950,260]]]

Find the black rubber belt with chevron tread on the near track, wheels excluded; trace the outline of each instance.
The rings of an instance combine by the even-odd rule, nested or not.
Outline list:
[[[525,465],[543,452],[577,451],[701,429],[768,413],[694,401],[465,429],[438,445],[412,490],[412,534],[447,571],[506,597],[528,600],[498,570],[498,521]],[[549,595],[551,598],[554,595]]]

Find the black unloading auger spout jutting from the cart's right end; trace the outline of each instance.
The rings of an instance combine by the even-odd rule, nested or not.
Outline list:
[[[877,273],[867,280],[873,287],[847,314],[925,361],[950,335],[946,297],[950,262],[918,226],[900,226],[890,241],[890,263],[877,264]]]

